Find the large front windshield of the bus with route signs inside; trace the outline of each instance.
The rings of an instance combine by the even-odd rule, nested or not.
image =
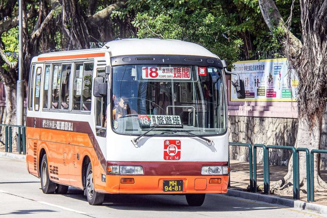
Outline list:
[[[154,126],[146,135],[222,134],[227,128],[224,84],[215,67],[114,66],[112,129],[132,135]]]

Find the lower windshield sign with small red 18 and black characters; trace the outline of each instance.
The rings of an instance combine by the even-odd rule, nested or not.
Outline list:
[[[172,115],[138,115],[140,126],[181,126],[181,117]]]

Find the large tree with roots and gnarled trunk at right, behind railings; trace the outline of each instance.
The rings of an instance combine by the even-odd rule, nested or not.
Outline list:
[[[259,0],[264,20],[271,32],[279,32],[288,58],[289,72],[299,78],[296,93],[298,101],[298,133],[295,147],[319,149],[322,114],[327,99],[327,0],[300,0],[301,39],[291,31],[290,18],[284,22],[274,0]],[[275,187],[289,190],[292,183],[292,162],[288,173]],[[300,155],[304,165],[305,156]],[[319,176],[319,156],[314,156],[315,191],[327,191],[327,184]],[[305,167],[300,167],[300,185],[306,182]],[[303,187],[305,189],[305,186]]]

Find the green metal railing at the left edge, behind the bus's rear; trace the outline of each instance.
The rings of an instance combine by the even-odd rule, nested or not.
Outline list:
[[[5,127],[5,151],[12,152],[12,128],[17,128],[17,146],[16,151],[26,154],[26,126],[0,124]]]

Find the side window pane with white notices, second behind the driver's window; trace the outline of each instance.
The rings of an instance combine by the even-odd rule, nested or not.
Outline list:
[[[73,85],[73,110],[81,109],[82,80],[83,80],[83,64],[82,63],[76,64],[74,85]]]

